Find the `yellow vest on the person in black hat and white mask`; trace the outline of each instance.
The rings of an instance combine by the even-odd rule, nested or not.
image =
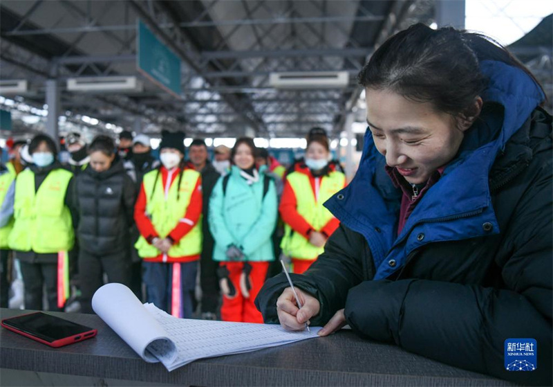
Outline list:
[[[156,186],[156,174],[158,170],[153,170],[144,175],[144,193],[146,194],[146,212],[150,217],[151,224],[156,228],[160,238],[165,238],[174,228],[178,225],[178,222],[185,215],[187,208],[190,204],[192,193],[196,188],[196,183],[200,178],[200,173],[195,170],[185,170],[182,172],[182,179],[180,181],[180,187],[178,186],[178,177],[171,184],[169,188],[169,194],[165,199],[165,190],[163,188],[162,179],[157,179]],[[180,193],[177,200],[177,189]],[[152,195],[153,192],[153,195]],[[148,243],[148,241],[141,235],[138,238],[138,242],[135,244],[138,250],[138,255],[141,258],[156,258],[160,255],[160,251],[155,246]],[[174,244],[167,255],[170,258],[182,258],[191,255],[200,255],[202,251],[202,222],[201,218],[196,223],[187,235]]]

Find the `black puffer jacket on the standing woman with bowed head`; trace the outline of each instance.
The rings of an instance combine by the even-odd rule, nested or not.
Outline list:
[[[103,172],[88,165],[77,176],[75,196],[79,208],[79,249],[93,254],[129,249],[135,185],[122,161],[116,159]]]

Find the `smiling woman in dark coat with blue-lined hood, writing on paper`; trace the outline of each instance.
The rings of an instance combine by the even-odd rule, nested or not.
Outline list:
[[[503,356],[525,337],[552,362],[552,118],[540,85],[486,37],[422,24],[382,44],[359,82],[362,160],[325,203],[341,224],[291,275],[303,307],[284,276],[265,283],[265,322],[310,321],[323,336],[348,323],[453,366],[551,385],[549,366],[512,372]]]

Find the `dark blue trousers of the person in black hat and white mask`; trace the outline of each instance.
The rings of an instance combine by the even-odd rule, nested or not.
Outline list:
[[[142,262],[146,298],[149,303],[171,313],[172,263]],[[180,264],[180,312],[182,318],[191,318],[194,312],[194,288],[198,274],[198,261]]]

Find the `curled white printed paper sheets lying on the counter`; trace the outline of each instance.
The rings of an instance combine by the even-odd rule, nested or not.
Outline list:
[[[317,336],[288,332],[280,325],[176,318],[153,304],[142,305],[126,286],[112,283],[93,297],[93,309],[142,359],[161,361],[171,371],[196,359],[294,343]]]

